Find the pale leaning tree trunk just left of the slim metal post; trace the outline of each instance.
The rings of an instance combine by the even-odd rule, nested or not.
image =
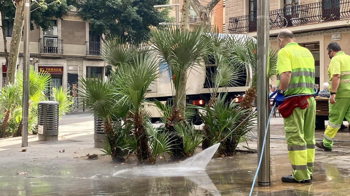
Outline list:
[[[17,60],[23,29],[23,0],[16,0],[16,15],[13,21],[13,31],[10,43],[10,53],[7,66],[6,84],[14,83],[16,78]]]

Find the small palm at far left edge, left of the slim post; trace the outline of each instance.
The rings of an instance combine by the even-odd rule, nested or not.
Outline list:
[[[4,108],[3,121],[1,124],[0,138],[6,135],[6,129],[10,120],[11,112],[18,106],[21,97],[17,84],[8,84],[0,91],[1,106]]]

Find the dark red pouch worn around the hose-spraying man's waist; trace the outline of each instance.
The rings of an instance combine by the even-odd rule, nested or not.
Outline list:
[[[312,97],[312,95],[287,98],[280,106],[278,106],[278,111],[283,118],[288,118],[293,113],[294,108],[307,108],[309,106],[307,99],[310,97]]]

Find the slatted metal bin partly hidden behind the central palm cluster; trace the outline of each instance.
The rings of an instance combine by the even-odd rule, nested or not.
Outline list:
[[[105,124],[98,116],[93,116],[93,131],[94,148],[104,148],[107,142]]]

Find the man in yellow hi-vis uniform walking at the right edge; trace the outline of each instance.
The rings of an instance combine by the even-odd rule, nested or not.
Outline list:
[[[323,142],[318,142],[316,146],[324,151],[332,151],[333,139],[344,117],[350,124],[350,56],[342,52],[336,42],[328,44],[327,50],[331,59],[328,67],[329,121]]]

